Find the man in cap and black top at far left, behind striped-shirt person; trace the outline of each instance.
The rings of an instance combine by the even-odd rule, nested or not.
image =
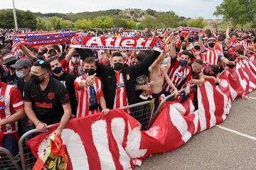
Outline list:
[[[15,64],[17,59],[11,53],[7,53],[3,56],[3,64],[8,68],[8,72],[4,74],[4,82],[16,86],[18,77],[16,77],[15,69],[11,65]]]

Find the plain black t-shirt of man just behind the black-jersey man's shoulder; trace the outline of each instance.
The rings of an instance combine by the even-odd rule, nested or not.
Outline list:
[[[60,81],[60,83],[62,83],[67,89],[68,95],[70,96],[70,105],[71,105],[72,113],[73,115],[76,115],[78,101],[75,96],[75,85],[74,85],[75,75],[63,72],[63,74],[60,77],[56,77],[54,74],[52,75],[52,77]]]

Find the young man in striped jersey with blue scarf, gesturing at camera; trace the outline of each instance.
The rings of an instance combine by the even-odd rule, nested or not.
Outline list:
[[[96,62],[92,57],[84,61],[85,75],[75,79],[75,94],[78,98],[77,118],[100,112],[100,107],[105,115],[110,111],[102,91],[102,83],[95,77]]]

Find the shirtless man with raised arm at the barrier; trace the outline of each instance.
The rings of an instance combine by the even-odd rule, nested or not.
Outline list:
[[[167,74],[166,67],[162,65],[166,57],[166,52],[161,53],[161,55],[154,61],[153,64],[149,67],[149,82],[154,81],[154,85],[151,86],[152,97],[154,99],[155,109],[159,106],[159,97],[163,94],[163,84],[164,79],[167,84],[174,88],[173,94],[178,95],[178,89],[172,83],[171,79]]]

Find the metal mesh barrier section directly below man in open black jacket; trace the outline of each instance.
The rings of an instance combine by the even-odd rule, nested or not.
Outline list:
[[[139,121],[142,125],[142,130],[148,130],[154,114],[154,103],[152,101],[144,101],[133,105],[119,108],[126,111],[129,115]]]

